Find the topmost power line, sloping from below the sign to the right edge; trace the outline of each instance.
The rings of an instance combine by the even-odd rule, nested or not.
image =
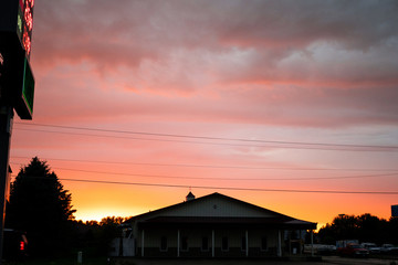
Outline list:
[[[347,144],[344,145],[344,144],[327,144],[327,142],[255,140],[255,139],[244,139],[244,138],[209,137],[209,136],[192,136],[192,135],[178,135],[178,134],[159,134],[159,132],[147,132],[147,131],[115,130],[115,129],[61,126],[61,125],[48,125],[48,124],[31,124],[31,123],[27,124],[27,123],[18,123],[18,121],[15,121],[14,124],[27,125],[27,126],[50,127],[50,128],[57,128],[57,129],[87,130],[87,131],[140,135],[140,136],[151,136],[151,137],[156,136],[156,137],[167,137],[167,138],[175,138],[175,139],[181,139],[181,138],[184,139],[185,138],[185,139],[200,139],[200,140],[251,142],[251,144],[273,144],[273,145],[280,145],[279,146],[280,148],[282,146],[283,148],[295,148],[295,149],[349,150],[349,151],[398,151],[398,146],[370,146],[370,145],[347,145]],[[57,131],[46,131],[46,132],[57,132]],[[115,136],[106,136],[106,137],[115,137]],[[165,139],[148,139],[148,140],[165,140]],[[180,140],[178,140],[178,141],[180,141]],[[209,144],[209,142],[196,142],[196,144]],[[214,142],[210,142],[210,144],[214,144]],[[231,144],[229,144],[229,145],[231,145]]]

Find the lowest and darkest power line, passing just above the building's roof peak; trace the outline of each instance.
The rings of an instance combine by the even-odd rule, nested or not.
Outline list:
[[[46,179],[44,177],[31,177],[36,179]],[[289,192],[289,193],[327,193],[327,194],[375,194],[375,195],[397,195],[398,191],[337,191],[337,190],[291,190],[291,189],[259,189],[259,188],[237,188],[237,187],[211,187],[211,186],[181,186],[181,184],[157,184],[142,182],[122,182],[122,181],[104,181],[104,180],[86,180],[86,179],[67,179],[59,178],[63,181],[101,183],[101,184],[123,184],[123,186],[144,186],[160,188],[195,188],[211,190],[235,190],[235,191],[253,191],[253,192]]]

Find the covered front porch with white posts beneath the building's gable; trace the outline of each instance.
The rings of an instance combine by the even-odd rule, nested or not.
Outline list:
[[[285,230],[316,224],[264,218],[161,216],[137,224],[140,257],[281,257]]]

